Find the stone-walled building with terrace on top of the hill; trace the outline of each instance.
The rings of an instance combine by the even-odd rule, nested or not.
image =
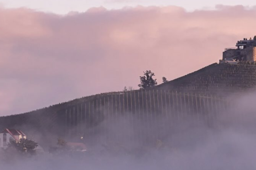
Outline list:
[[[256,61],[256,36],[237,41],[235,48],[225,48],[220,63],[236,64],[240,61]]]

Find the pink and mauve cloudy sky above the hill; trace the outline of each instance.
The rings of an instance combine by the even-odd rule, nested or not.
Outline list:
[[[141,0],[144,6],[129,8],[119,4],[135,1],[0,2],[0,115],[137,89],[148,69],[158,83],[162,76],[172,80],[218,62],[225,47],[256,34],[249,1],[212,4],[214,10],[202,1],[196,11],[189,11],[196,9],[190,1],[147,7],[150,1]]]

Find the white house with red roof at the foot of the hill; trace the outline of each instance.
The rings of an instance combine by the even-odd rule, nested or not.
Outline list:
[[[0,133],[0,148],[6,148],[10,141],[20,141],[20,139],[26,139],[27,136],[17,129],[4,129]]]

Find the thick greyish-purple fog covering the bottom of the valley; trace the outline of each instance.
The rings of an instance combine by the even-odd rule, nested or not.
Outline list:
[[[179,124],[179,133],[171,134],[170,130],[170,134],[162,141],[148,141],[146,144],[126,141],[123,147],[115,146],[114,143],[108,149],[102,143],[94,143],[88,144],[88,150],[83,153],[52,154],[48,153],[47,148],[36,156],[21,156],[15,151],[8,154],[1,152],[1,169],[256,169],[254,98],[256,92],[239,97],[230,96],[228,100],[232,104],[219,113],[213,127],[204,122],[192,126],[189,121],[184,121]],[[124,125],[124,120],[120,121],[122,123],[117,123],[116,129]]]

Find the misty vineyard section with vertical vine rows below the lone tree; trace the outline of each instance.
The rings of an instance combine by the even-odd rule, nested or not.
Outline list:
[[[179,124],[207,122],[213,126],[227,102],[216,96],[201,96],[166,90],[137,90],[102,96],[60,110],[58,120],[66,137],[96,136],[95,140],[146,142],[163,139]],[[114,133],[113,133],[114,132]]]

